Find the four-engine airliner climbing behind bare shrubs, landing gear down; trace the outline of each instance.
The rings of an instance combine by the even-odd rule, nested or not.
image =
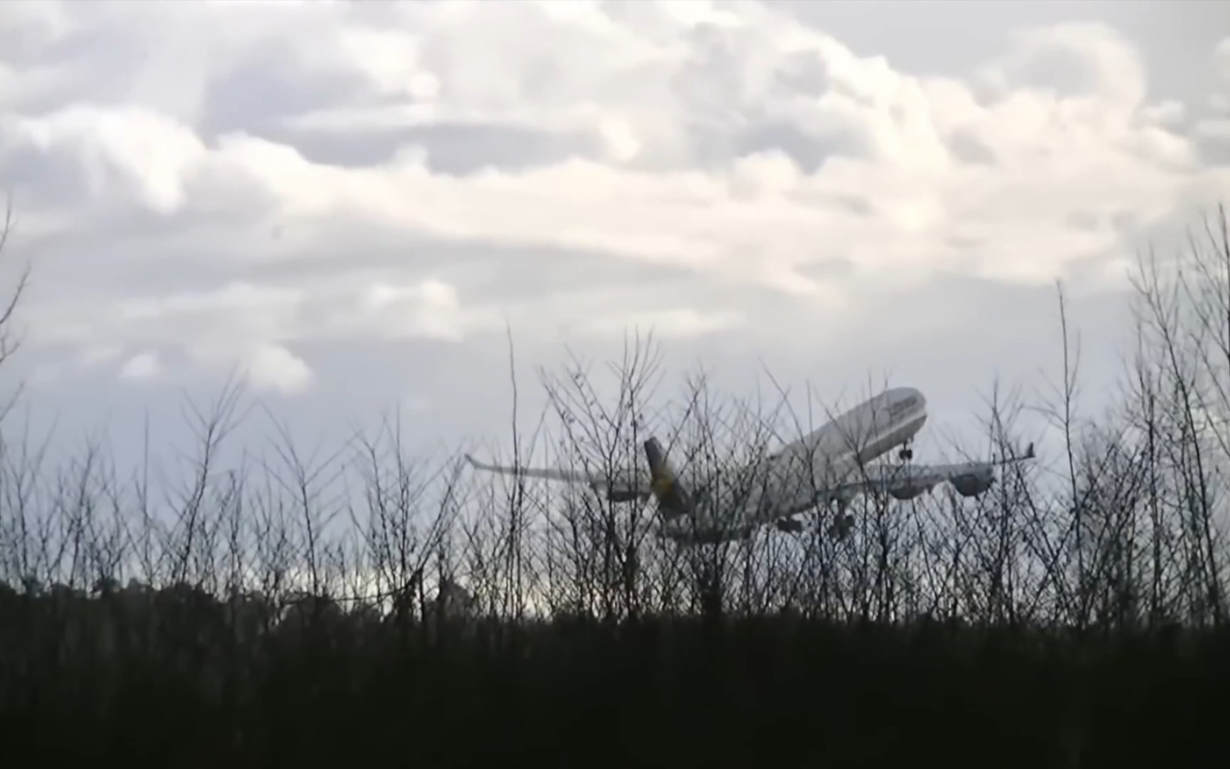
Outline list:
[[[996,461],[867,464],[894,448],[899,448],[898,458],[909,463],[914,458],[913,438],[926,417],[926,399],[919,390],[894,388],[749,466],[711,479],[680,479],[654,437],[643,444],[647,477],[635,471],[510,468],[481,463],[469,454],[466,460],[490,472],[584,484],[611,502],[643,503],[653,498],[661,516],[659,536],[679,545],[701,545],[748,539],[768,524],[797,534],[803,530],[798,516],[834,506],[835,522],[829,534],[844,538],[854,525],[854,517],[845,509],[859,495],[888,493],[905,501],[948,482],[961,496],[977,497],[995,482],[995,468],[1034,458],[1031,443],[1023,454]],[[722,475],[731,482],[723,484]]]

